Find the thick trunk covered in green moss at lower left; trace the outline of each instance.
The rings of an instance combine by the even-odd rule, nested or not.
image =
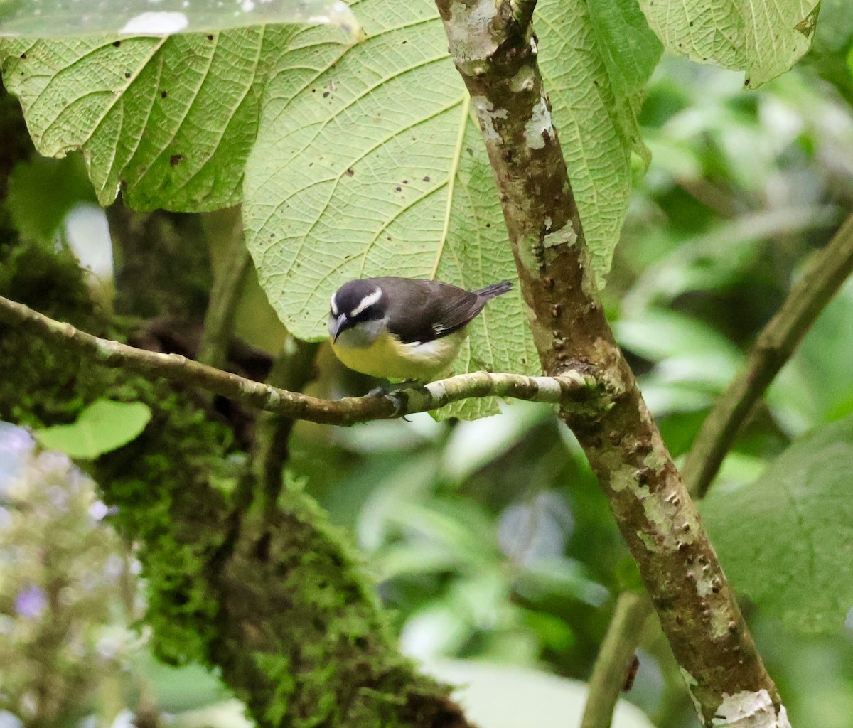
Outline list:
[[[0,294],[17,287],[37,310],[116,336],[103,330],[76,263],[0,251],[0,267],[9,260]],[[252,507],[248,458],[198,398],[9,327],[0,328],[0,371],[0,418],[21,424],[70,422],[98,397],[151,408],[143,433],[90,469],[118,507],[113,525],[136,545],[145,622],[162,659],[220,668],[270,728],[464,725],[446,690],[399,655],[349,536],[297,483],[285,483],[277,508]]]

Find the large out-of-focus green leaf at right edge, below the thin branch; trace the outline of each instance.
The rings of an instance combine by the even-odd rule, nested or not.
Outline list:
[[[734,587],[786,626],[837,632],[853,607],[853,416],[818,428],[702,515]]]

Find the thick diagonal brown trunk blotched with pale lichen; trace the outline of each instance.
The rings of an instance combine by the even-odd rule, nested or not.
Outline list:
[[[563,410],[610,499],[699,716],[765,705],[787,725],[711,542],[616,345],[587,267],[583,230],[537,40],[510,0],[437,0],[450,54],[477,110],[543,370],[589,371],[624,392],[596,416]],[[766,700],[765,700],[766,699]],[[757,715],[757,713],[756,713]]]

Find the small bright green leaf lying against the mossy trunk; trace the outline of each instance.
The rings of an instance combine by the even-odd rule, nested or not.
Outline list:
[[[80,412],[77,422],[39,429],[33,435],[49,450],[91,460],[135,440],[150,419],[151,410],[142,402],[97,399]]]

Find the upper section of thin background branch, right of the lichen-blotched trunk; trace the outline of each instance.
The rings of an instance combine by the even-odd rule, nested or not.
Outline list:
[[[684,483],[692,495],[705,496],[752,406],[851,272],[853,215],[844,221],[809,272],[791,289],[779,311],[761,330],[746,358],[746,366],[705,418],[682,466]]]

